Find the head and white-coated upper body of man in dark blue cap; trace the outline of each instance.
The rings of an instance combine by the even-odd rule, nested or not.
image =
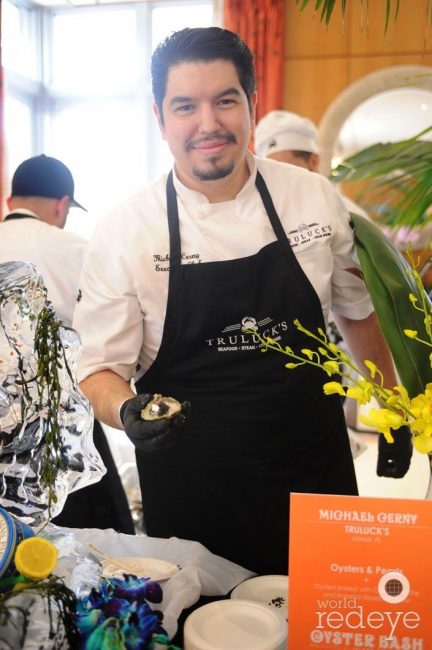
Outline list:
[[[64,229],[70,208],[85,210],[74,198],[69,168],[44,154],[24,160],[13,174],[6,203],[0,262],[34,264],[43,274],[56,315],[70,326],[88,242]]]

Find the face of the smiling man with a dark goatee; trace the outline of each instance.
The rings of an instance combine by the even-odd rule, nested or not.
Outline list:
[[[230,61],[183,62],[169,69],[162,113],[154,110],[185,185],[207,194],[227,179],[244,182],[255,102],[255,93],[248,102]]]

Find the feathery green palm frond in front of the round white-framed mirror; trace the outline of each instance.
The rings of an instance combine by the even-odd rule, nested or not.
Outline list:
[[[432,219],[432,126],[400,142],[378,143],[350,156],[331,172],[336,182],[361,182],[356,201],[378,223],[422,226]]]

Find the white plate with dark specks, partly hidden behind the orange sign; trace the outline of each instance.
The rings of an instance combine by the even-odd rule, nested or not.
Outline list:
[[[243,598],[263,603],[288,620],[288,576],[250,578],[233,589],[231,598]]]

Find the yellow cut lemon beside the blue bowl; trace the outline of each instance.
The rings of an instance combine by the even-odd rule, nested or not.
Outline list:
[[[29,537],[18,544],[15,551],[17,571],[31,580],[43,580],[54,570],[58,551],[43,537]]]

